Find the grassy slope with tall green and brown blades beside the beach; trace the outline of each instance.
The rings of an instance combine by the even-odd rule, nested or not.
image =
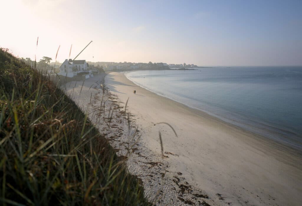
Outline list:
[[[2,48],[0,93],[1,204],[150,204],[78,106]]]

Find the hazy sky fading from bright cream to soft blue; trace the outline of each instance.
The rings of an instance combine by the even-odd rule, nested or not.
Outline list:
[[[0,0],[0,47],[63,62],[302,65],[302,1]],[[38,45],[37,45],[37,38]],[[60,48],[59,48],[60,46]],[[56,53],[59,48],[57,58]]]

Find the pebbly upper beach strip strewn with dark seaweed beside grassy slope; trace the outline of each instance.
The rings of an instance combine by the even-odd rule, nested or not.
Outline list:
[[[106,75],[73,81],[65,84],[64,89],[108,139],[120,160],[125,161],[130,174],[141,182],[149,202],[156,205],[220,205],[219,201],[215,203],[204,191],[185,182],[181,173],[169,174],[167,158],[177,154],[169,153],[162,157],[140,141],[142,131],[138,129],[139,125],[135,123],[134,116],[124,109],[125,103],[104,84]]]

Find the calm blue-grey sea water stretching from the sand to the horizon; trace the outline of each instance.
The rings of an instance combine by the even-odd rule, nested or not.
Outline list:
[[[164,97],[302,151],[302,67],[132,71]]]

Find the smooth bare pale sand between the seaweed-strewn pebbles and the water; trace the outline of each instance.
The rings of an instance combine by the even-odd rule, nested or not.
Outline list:
[[[165,130],[161,131],[168,138],[168,141],[163,140],[164,150],[173,154],[182,151],[182,157],[174,158],[171,165],[175,166],[175,171],[183,168],[184,172],[180,171],[186,173],[183,176],[191,179],[210,197],[222,194],[226,200],[224,203],[245,204],[242,201],[244,197],[249,204],[256,205],[276,204],[276,201],[279,201],[277,204],[297,204],[302,201],[298,195],[302,189],[297,184],[302,183],[301,155],[297,151],[145,90],[124,74],[113,72],[106,78],[106,85],[121,102],[126,102],[130,97],[127,107],[138,118],[138,125],[148,128],[153,122],[168,122],[180,134],[178,141],[175,141],[170,134],[164,133]],[[132,95],[132,88],[137,90],[137,95]],[[151,150],[160,153],[154,138],[158,136],[158,131],[149,129],[148,132],[142,136],[142,141]],[[278,198],[287,191],[294,195],[291,198]],[[254,195],[256,193],[258,196]]]

